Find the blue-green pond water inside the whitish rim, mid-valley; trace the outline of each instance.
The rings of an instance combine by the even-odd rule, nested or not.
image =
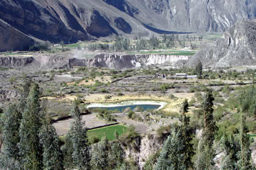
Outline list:
[[[90,109],[96,109],[96,108],[102,108],[102,109],[108,109],[108,110],[119,110],[120,112],[127,107],[130,107],[130,109],[135,109],[136,107],[142,107],[143,110],[148,109],[158,109],[161,105],[158,104],[133,104],[133,105],[126,105],[126,106],[115,106],[115,107],[90,107]]]

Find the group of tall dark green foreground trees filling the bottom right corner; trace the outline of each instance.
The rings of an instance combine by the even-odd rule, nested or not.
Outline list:
[[[202,109],[204,112],[204,127],[201,140],[197,151],[194,151],[193,144],[191,144],[193,138],[192,127],[190,127],[190,117],[185,115],[188,112],[188,101],[185,100],[180,109],[181,124],[173,124],[171,128],[171,134],[165,141],[162,151],[158,153],[155,164],[146,164],[147,170],[164,170],[164,169],[217,169],[215,163],[216,151],[213,146],[215,141],[216,131],[218,126],[213,118],[213,101],[215,98],[211,91],[208,91],[205,95],[202,103]],[[233,135],[227,136],[224,134],[221,138],[220,151],[223,151],[225,157],[222,158],[221,168],[227,169],[255,169],[251,160],[251,141],[249,135],[247,135],[246,127],[246,115],[244,112],[240,112],[240,134],[238,143],[234,139]],[[195,153],[197,154],[197,160],[192,161]]]

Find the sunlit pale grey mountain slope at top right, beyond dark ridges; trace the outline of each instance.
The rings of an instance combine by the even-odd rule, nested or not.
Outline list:
[[[223,32],[256,17],[255,0],[102,0],[157,29]]]

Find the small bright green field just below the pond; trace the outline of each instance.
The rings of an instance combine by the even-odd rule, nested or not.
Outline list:
[[[114,140],[114,132],[116,131],[118,135],[123,134],[126,132],[127,127],[122,125],[113,125],[113,126],[107,126],[107,127],[101,127],[98,129],[89,130],[87,132],[88,138],[91,138],[93,136],[99,137],[100,139],[105,134],[107,135],[108,140]]]

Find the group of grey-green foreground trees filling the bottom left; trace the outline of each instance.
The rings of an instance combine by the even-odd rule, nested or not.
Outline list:
[[[26,80],[20,102],[4,113],[2,169],[125,169],[124,150],[117,140],[110,144],[102,137],[90,152],[87,127],[76,101],[64,143],[43,105],[38,84]]]

